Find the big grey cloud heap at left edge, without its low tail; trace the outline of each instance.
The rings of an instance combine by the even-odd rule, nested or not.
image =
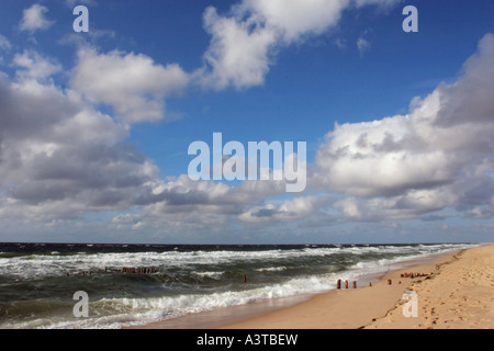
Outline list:
[[[16,63],[33,71],[29,57]],[[45,73],[0,79],[0,200],[9,208],[2,214],[15,208],[45,220],[131,206],[158,168],[124,143],[126,126],[42,81]]]

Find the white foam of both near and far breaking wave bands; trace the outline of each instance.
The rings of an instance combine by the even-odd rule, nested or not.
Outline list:
[[[337,248],[303,248],[293,250],[259,251],[168,251],[137,253],[94,253],[72,256],[26,256],[0,259],[0,274],[22,279],[47,278],[65,274],[70,270],[97,270],[104,267],[160,267],[166,265],[171,272],[188,267],[192,275],[221,280],[226,272],[222,264],[239,263],[259,264],[254,269],[259,272],[282,272],[287,265],[271,265],[278,261],[296,263],[304,267],[299,259],[325,258],[341,254],[345,259],[355,256],[361,258],[352,264],[345,263],[343,271],[328,269],[326,273],[303,274],[266,281],[262,285],[242,286],[234,290],[205,290],[204,292],[177,292],[158,297],[100,298],[90,302],[90,317],[75,319],[67,316],[35,318],[14,324],[15,328],[120,328],[124,325],[148,324],[162,319],[176,318],[191,313],[212,310],[220,307],[250,304],[269,298],[315,294],[335,288],[337,279],[361,280],[406,264],[406,260],[422,259],[431,253],[472,247],[472,245],[435,245],[435,246],[355,246]],[[366,257],[366,254],[369,254]],[[373,258],[375,254],[375,258]],[[389,256],[389,258],[386,258]],[[214,269],[213,265],[215,267]],[[328,267],[330,263],[328,263]],[[291,265],[290,265],[291,267]],[[199,268],[204,268],[200,270]],[[220,269],[218,269],[220,268]],[[216,270],[217,269],[217,270]],[[310,271],[310,268],[308,268]],[[179,274],[179,273],[177,273]],[[274,274],[276,275],[276,274]],[[165,284],[168,286],[167,284]],[[168,286],[173,288],[173,286]]]

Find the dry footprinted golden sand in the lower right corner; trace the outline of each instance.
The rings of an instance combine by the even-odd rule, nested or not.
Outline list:
[[[404,318],[403,303],[369,329],[494,328],[494,245],[461,251],[433,280],[414,283],[418,317]]]

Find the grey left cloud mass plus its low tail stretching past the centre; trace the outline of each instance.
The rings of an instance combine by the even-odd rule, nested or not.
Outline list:
[[[282,182],[227,185],[162,179],[158,167],[125,141],[128,125],[99,112],[78,91],[56,87],[58,69],[29,52],[14,59],[15,78],[0,77],[0,217],[53,223],[88,212],[130,211],[113,228],[141,229],[169,220],[176,226],[217,225],[263,196],[284,192]],[[40,68],[41,67],[41,68]],[[48,69],[49,68],[49,69]],[[200,213],[200,215],[199,215]],[[144,219],[143,219],[144,218]]]

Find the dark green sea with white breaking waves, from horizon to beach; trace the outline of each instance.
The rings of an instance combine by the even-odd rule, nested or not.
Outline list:
[[[167,246],[0,244],[0,328],[121,328],[369,280],[469,244]],[[121,273],[154,268],[151,274]],[[85,273],[82,273],[85,272]],[[89,297],[89,316],[74,316]]]

